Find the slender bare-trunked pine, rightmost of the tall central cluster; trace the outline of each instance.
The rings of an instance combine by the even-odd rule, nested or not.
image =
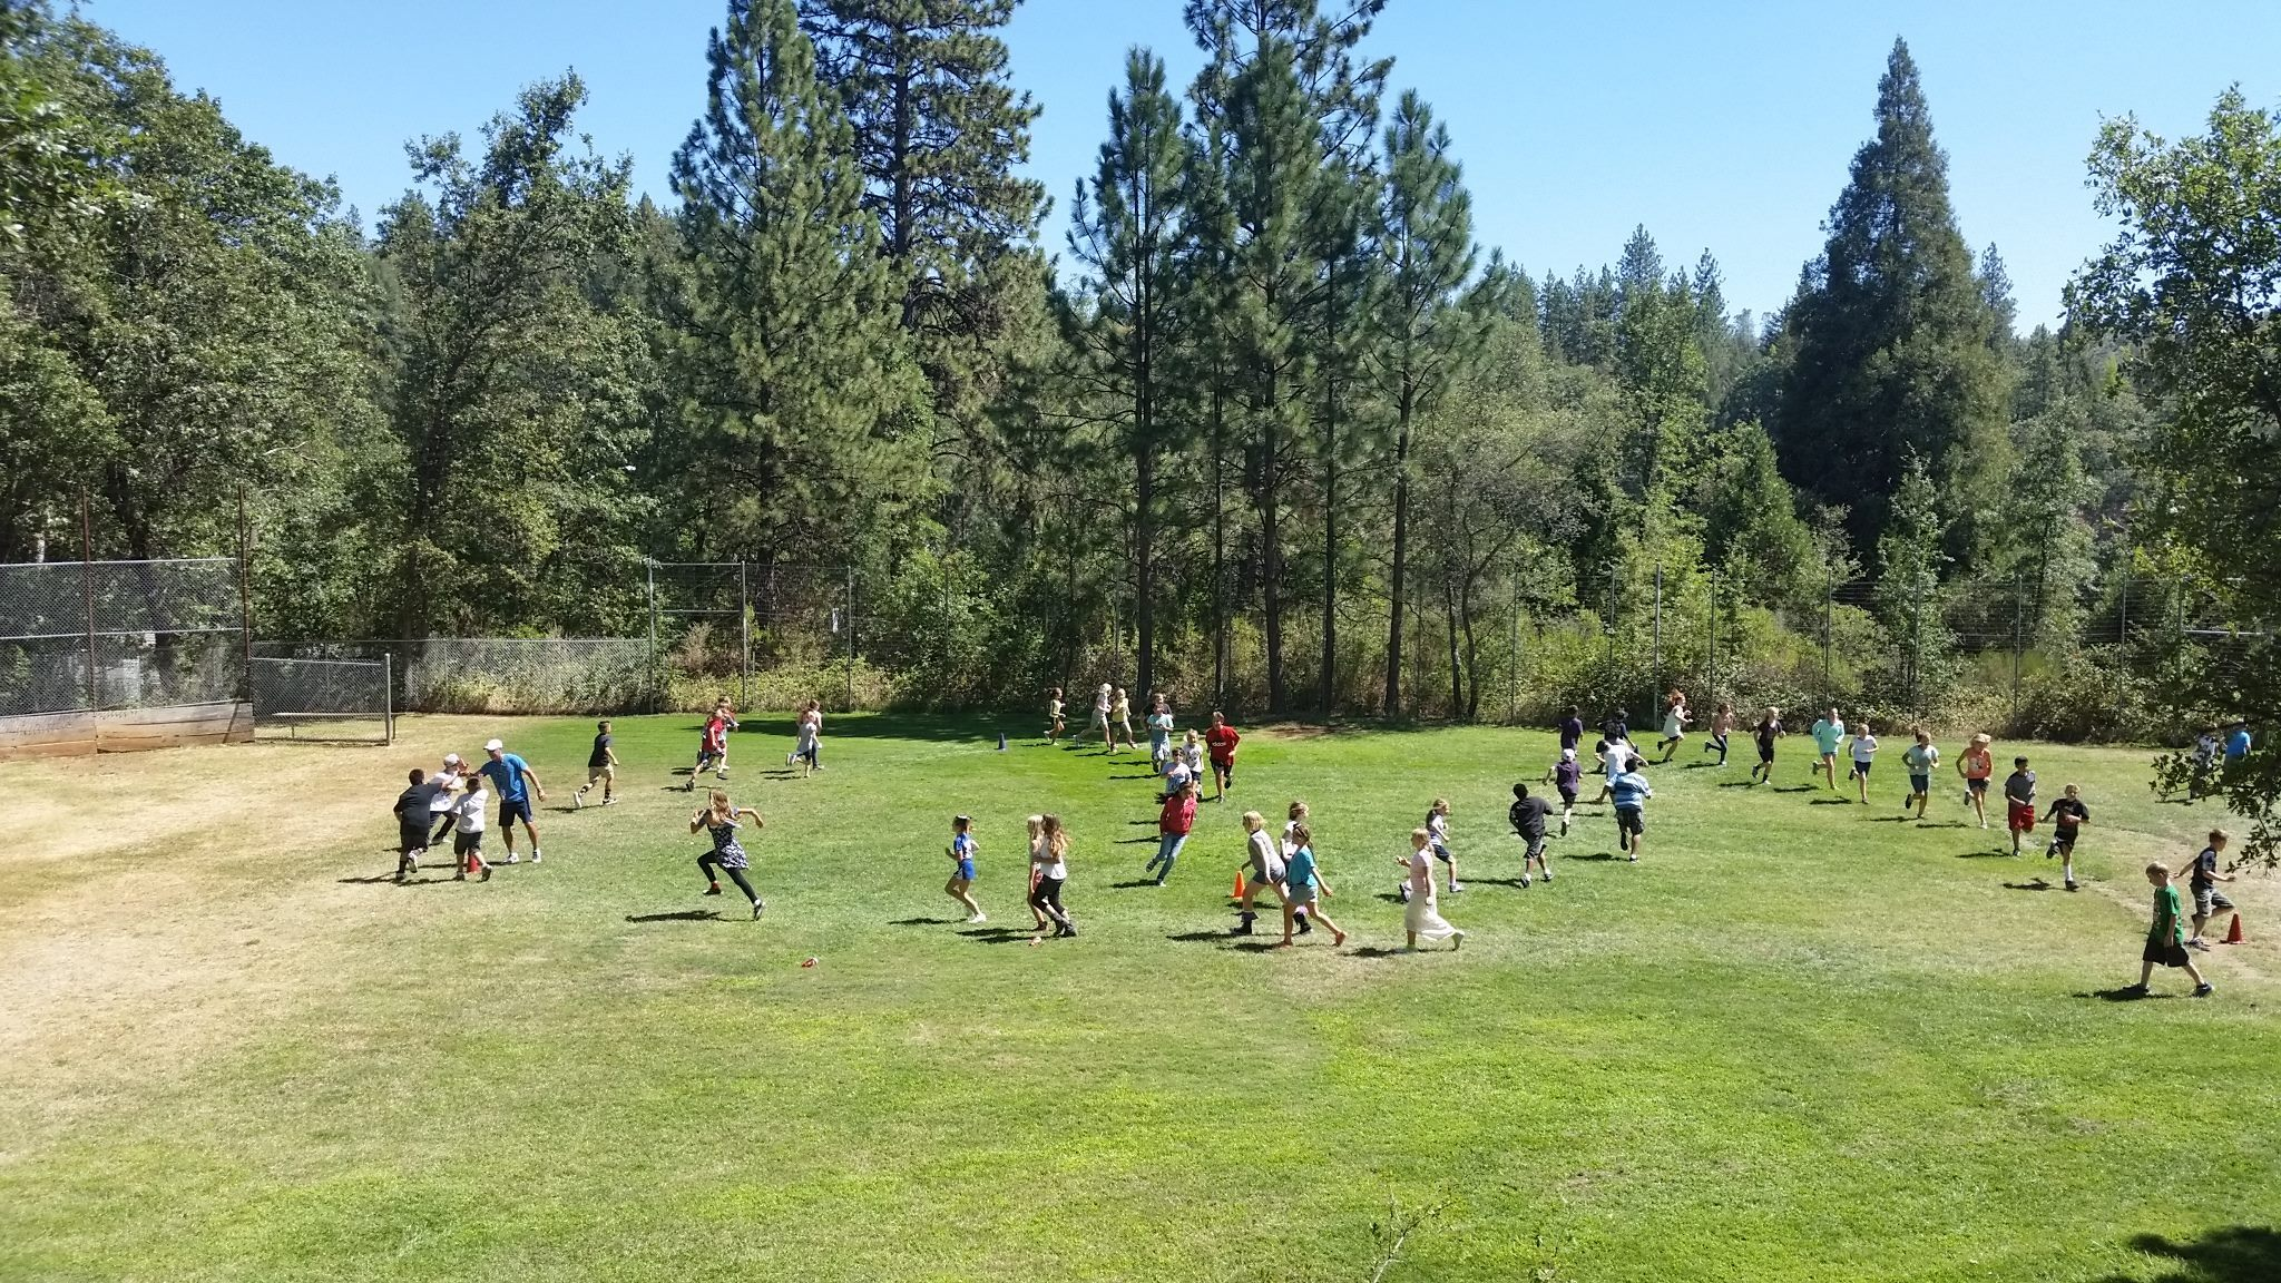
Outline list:
[[[1432,413],[1451,377],[1478,352],[1485,326],[1460,306],[1474,272],[1474,205],[1448,128],[1417,94],[1387,123],[1387,178],[1378,247],[1387,288],[1378,308],[1380,381],[1394,402],[1394,566],[1387,614],[1385,715],[1401,715],[1403,607],[1410,573],[1410,447],[1419,415]]]

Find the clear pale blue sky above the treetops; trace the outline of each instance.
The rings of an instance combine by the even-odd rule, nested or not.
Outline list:
[[[1334,0],[1332,0],[1334,2]],[[1031,171],[1054,194],[1090,174],[1125,50],[1175,80],[1200,57],[1179,0],[1029,0],[1008,46],[1045,107]],[[331,174],[370,224],[406,185],[404,142],[474,137],[520,84],[575,66],[582,119],[636,183],[666,162],[705,94],[719,0],[89,0],[84,11],[221,98],[278,160]],[[1923,71],[1966,240],[1996,242],[2021,320],[2108,235],[2083,187],[2099,119],[2199,128],[2229,82],[2281,105],[2274,0],[1394,0],[1369,48],[1391,87],[1448,123],[1476,233],[1542,276],[1613,263],[1645,224],[1667,263],[1711,249],[1736,308],[1781,306],[1820,247],[1845,162],[1870,132],[1896,34]]]

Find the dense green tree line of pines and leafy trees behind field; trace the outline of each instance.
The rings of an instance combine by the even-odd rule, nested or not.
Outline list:
[[[1964,642],[2010,635],[2021,731],[2142,733],[2210,667],[2087,621],[2260,616],[2169,518],[2240,500],[2187,484],[2174,301],[2126,304],[2114,251],[2016,333],[1902,41],[1823,253],[1752,315],[1647,228],[1542,276],[1480,247],[1382,2],[1188,0],[1202,71],[1129,53],[1061,247],[1015,0],[732,0],[668,203],[566,73],[408,144],[370,231],[157,55],[11,2],[0,559],[75,546],[82,493],[100,555],[228,550],[242,493],[281,639],[639,635],[646,557],[842,566],[910,701],[1252,715],[1695,673],[1966,717]],[[2135,219],[2169,144],[2099,146]],[[2210,379],[2267,379],[2270,315]]]

